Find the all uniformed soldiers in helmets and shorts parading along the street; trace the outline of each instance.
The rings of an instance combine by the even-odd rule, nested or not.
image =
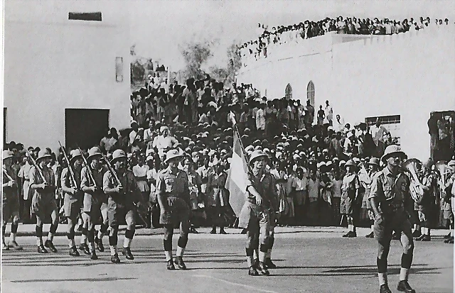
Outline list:
[[[63,148],[63,147],[62,147]],[[64,148],[63,148],[64,149]],[[65,153],[65,151],[64,151]],[[38,253],[57,253],[53,238],[58,228],[58,204],[55,200],[55,189],[58,186],[52,169],[48,167],[51,155],[48,149],[40,150],[36,156],[27,153],[31,163],[28,181],[24,182],[31,190],[31,211],[36,216],[36,244]],[[17,180],[11,168],[14,153],[4,150],[3,159],[3,205],[2,205],[2,249],[22,250],[16,242],[19,222],[19,204]],[[36,158],[35,158],[36,157]],[[399,238],[402,243],[400,270],[400,292],[414,292],[410,287],[408,275],[414,252],[414,238],[417,241],[431,241],[432,209],[441,197],[444,216],[450,222],[451,232],[446,236],[446,243],[454,243],[454,199],[455,199],[455,160],[447,164],[431,162],[422,164],[416,159],[405,160],[407,156],[397,145],[389,145],[381,157],[385,165],[380,170],[380,161],[372,158],[368,170],[359,167],[353,160],[346,162],[346,175],[341,187],[341,214],[348,219],[349,232],[345,237],[355,237],[355,216],[358,215],[360,203],[368,209],[372,233],[378,241],[378,278],[380,292],[391,292],[387,282],[387,255],[392,238]],[[188,243],[192,210],[191,186],[188,182],[191,167],[180,167],[183,155],[179,150],[169,150],[164,160],[167,167],[156,176],[156,199],[161,214],[160,223],[164,225],[164,255],[168,270],[186,269],[183,253]],[[144,199],[134,174],[127,169],[127,155],[123,150],[115,150],[112,159],[94,147],[87,157],[82,150],[72,150],[70,156],[65,153],[68,167],[62,171],[60,185],[64,192],[64,213],[68,219],[69,254],[77,257],[75,243],[75,224],[82,218],[82,236],[80,250],[97,259],[96,251],[104,251],[102,238],[109,235],[111,261],[119,263],[117,250],[119,223],[126,221],[122,254],[133,260],[131,251],[135,233],[135,219],[144,209],[151,206]],[[104,162],[103,162],[104,161]],[[183,163],[191,160],[183,160]],[[267,170],[269,157],[262,150],[255,150],[249,156],[250,171],[247,172],[245,187],[245,204],[240,212],[239,227],[245,228],[247,243],[245,253],[249,275],[269,275],[269,269],[276,267],[271,260],[274,245],[274,225],[279,217],[279,196],[277,195],[277,178]],[[217,175],[218,176],[218,175]],[[220,176],[224,177],[223,174]],[[198,180],[196,180],[198,181]],[[200,180],[199,180],[200,181]],[[225,179],[222,180],[225,182]],[[200,184],[200,182],[199,182]],[[191,185],[191,186],[190,186]],[[196,183],[197,185],[197,183]],[[215,188],[223,188],[214,184]],[[194,189],[194,188],[193,188]],[[437,190],[441,194],[437,194]],[[195,189],[196,192],[196,189]],[[199,191],[198,191],[199,192]],[[213,192],[214,202],[228,201],[227,196]],[[217,206],[217,204],[214,204]],[[217,216],[220,211],[216,209]],[[43,242],[43,221],[50,216],[51,225],[48,237]],[[100,230],[95,230],[96,219],[102,219]],[[11,236],[8,243],[4,238],[6,223],[11,221]],[[414,223],[414,231],[412,231]],[[179,226],[180,236],[176,258],[172,255],[173,227]],[[223,228],[223,227],[222,227]],[[215,230],[215,227],[213,227]],[[394,234],[395,232],[395,234]],[[224,233],[224,230],[223,230]]]

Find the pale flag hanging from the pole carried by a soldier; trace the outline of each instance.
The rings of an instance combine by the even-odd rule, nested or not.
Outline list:
[[[225,188],[229,191],[229,203],[235,215],[238,217],[245,204],[245,189],[247,187],[247,159],[240,144],[240,137],[237,131],[234,132],[234,147]]]

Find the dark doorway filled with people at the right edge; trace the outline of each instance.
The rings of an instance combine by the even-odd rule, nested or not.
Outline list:
[[[455,111],[432,112],[428,128],[433,161],[448,162],[455,153]]]

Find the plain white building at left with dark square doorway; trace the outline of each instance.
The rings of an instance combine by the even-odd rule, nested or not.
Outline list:
[[[121,2],[5,2],[7,142],[85,148],[107,127],[129,126],[131,44]]]

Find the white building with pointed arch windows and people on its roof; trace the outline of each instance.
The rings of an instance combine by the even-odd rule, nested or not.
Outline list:
[[[252,83],[268,99],[282,98],[289,84],[292,99],[304,104],[310,99],[316,111],[328,100],[334,117],[350,123],[381,117],[409,157],[426,160],[433,154],[430,113],[455,119],[454,33],[453,25],[434,26],[398,35],[328,34],[272,46],[267,58],[246,60],[237,83]]]

